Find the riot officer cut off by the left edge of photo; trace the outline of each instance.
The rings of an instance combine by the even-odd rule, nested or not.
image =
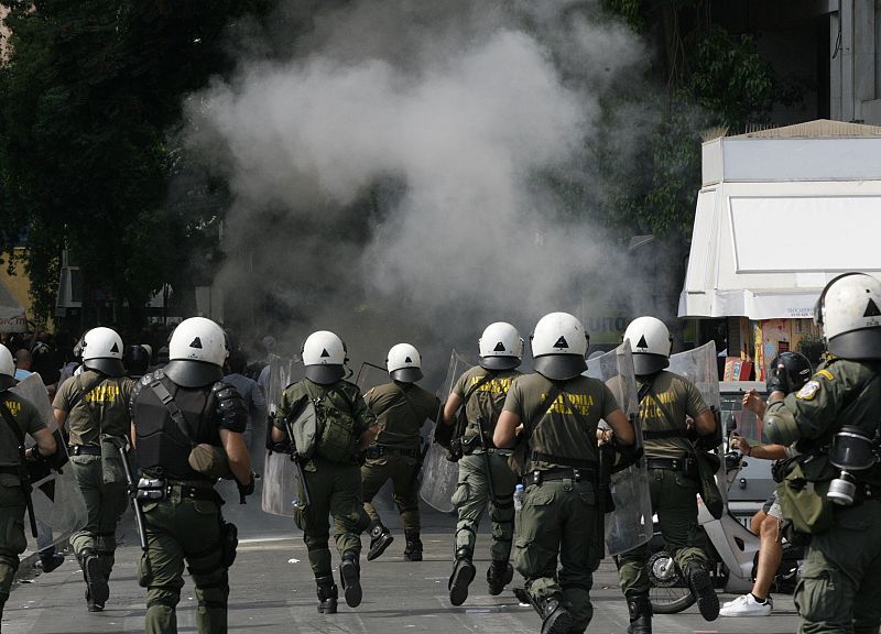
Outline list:
[[[37,409],[25,398],[9,391],[15,384],[14,375],[12,353],[0,345],[0,617],[9,599],[12,579],[19,569],[19,555],[28,546],[23,522],[25,493],[19,477],[22,457],[18,449],[18,437],[28,434],[36,440],[39,456],[48,457],[58,449]],[[15,434],[11,425],[17,425],[20,433]]]

